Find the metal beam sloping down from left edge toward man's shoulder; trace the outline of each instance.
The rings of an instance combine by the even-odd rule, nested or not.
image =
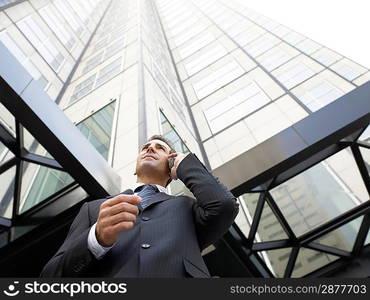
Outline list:
[[[120,178],[115,171],[36,81],[27,85],[17,82],[14,77],[26,70],[14,57],[5,57],[6,60],[0,56],[0,101],[9,112],[89,195],[98,198],[119,193]],[[16,86],[20,95],[8,82]]]

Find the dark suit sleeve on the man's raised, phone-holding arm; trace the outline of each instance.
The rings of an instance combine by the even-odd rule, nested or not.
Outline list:
[[[195,154],[188,154],[177,168],[177,177],[193,193],[193,215],[201,249],[220,239],[239,211],[233,194],[210,173]]]

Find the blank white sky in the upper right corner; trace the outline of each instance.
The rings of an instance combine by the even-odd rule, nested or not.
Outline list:
[[[370,1],[242,1],[256,12],[370,68]]]

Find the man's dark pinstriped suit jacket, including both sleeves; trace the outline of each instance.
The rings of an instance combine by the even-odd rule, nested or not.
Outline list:
[[[66,240],[41,276],[209,277],[201,250],[228,230],[238,204],[192,153],[179,164],[177,176],[196,199],[157,193],[139,214],[135,226],[121,232],[117,243],[100,260],[88,249],[87,239],[100,205],[110,197],[84,203]]]

